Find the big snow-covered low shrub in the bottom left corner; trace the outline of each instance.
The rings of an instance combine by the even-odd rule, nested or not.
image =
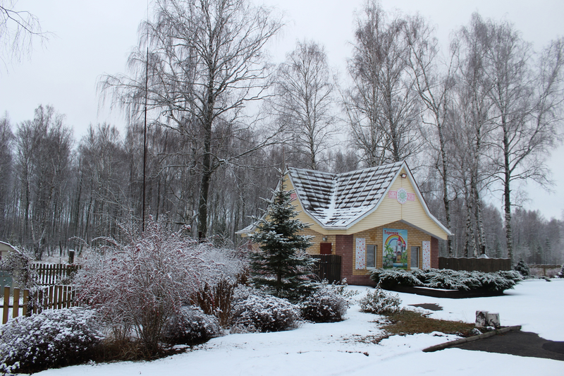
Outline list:
[[[89,360],[102,341],[94,311],[45,310],[0,327],[0,372],[37,372]]]

